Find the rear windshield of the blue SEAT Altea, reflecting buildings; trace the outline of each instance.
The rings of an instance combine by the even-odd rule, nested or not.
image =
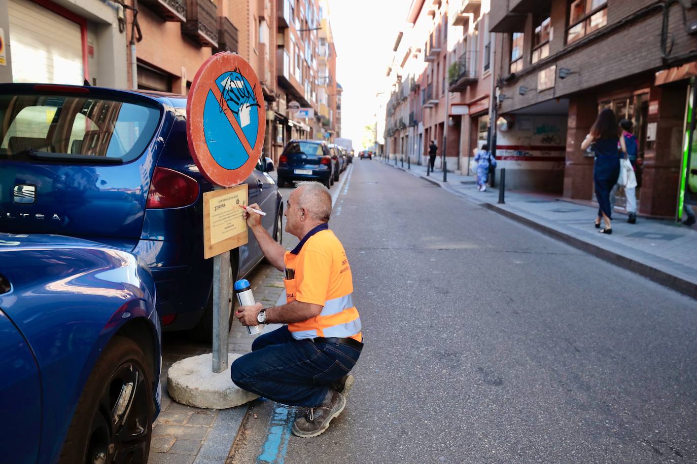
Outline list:
[[[82,94],[0,95],[0,158],[131,161],[159,121],[154,104]]]

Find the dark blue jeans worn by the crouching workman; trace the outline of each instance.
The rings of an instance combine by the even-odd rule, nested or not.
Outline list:
[[[230,370],[232,381],[243,390],[277,403],[314,408],[359,356],[353,346],[293,339],[283,326],[256,337],[252,353],[237,358]]]

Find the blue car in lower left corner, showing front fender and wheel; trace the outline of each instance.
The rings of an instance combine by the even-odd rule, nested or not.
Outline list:
[[[100,243],[0,234],[3,463],[146,463],[160,411],[155,284]]]

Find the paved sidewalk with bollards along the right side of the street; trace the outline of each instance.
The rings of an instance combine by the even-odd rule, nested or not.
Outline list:
[[[597,233],[592,221],[597,207],[570,202],[551,195],[535,195],[523,192],[505,192],[505,204],[498,204],[497,188],[477,191],[474,176],[447,173],[443,182],[443,170],[426,175],[426,166],[412,165],[404,170],[422,177],[443,189],[477,203],[503,216],[532,227],[539,232],[564,241],[587,253],[606,259],[617,266],[643,275],[661,285],[697,298],[697,229],[674,223],[639,217],[637,223],[628,224],[627,214],[615,211],[613,234]],[[694,226],[697,227],[697,226]]]

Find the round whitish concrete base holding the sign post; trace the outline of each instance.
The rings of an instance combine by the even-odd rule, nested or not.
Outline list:
[[[229,353],[229,365],[239,357]],[[259,398],[258,394],[232,383],[229,368],[215,374],[211,366],[211,353],[175,362],[167,372],[167,392],[171,399],[195,408],[227,409]]]

